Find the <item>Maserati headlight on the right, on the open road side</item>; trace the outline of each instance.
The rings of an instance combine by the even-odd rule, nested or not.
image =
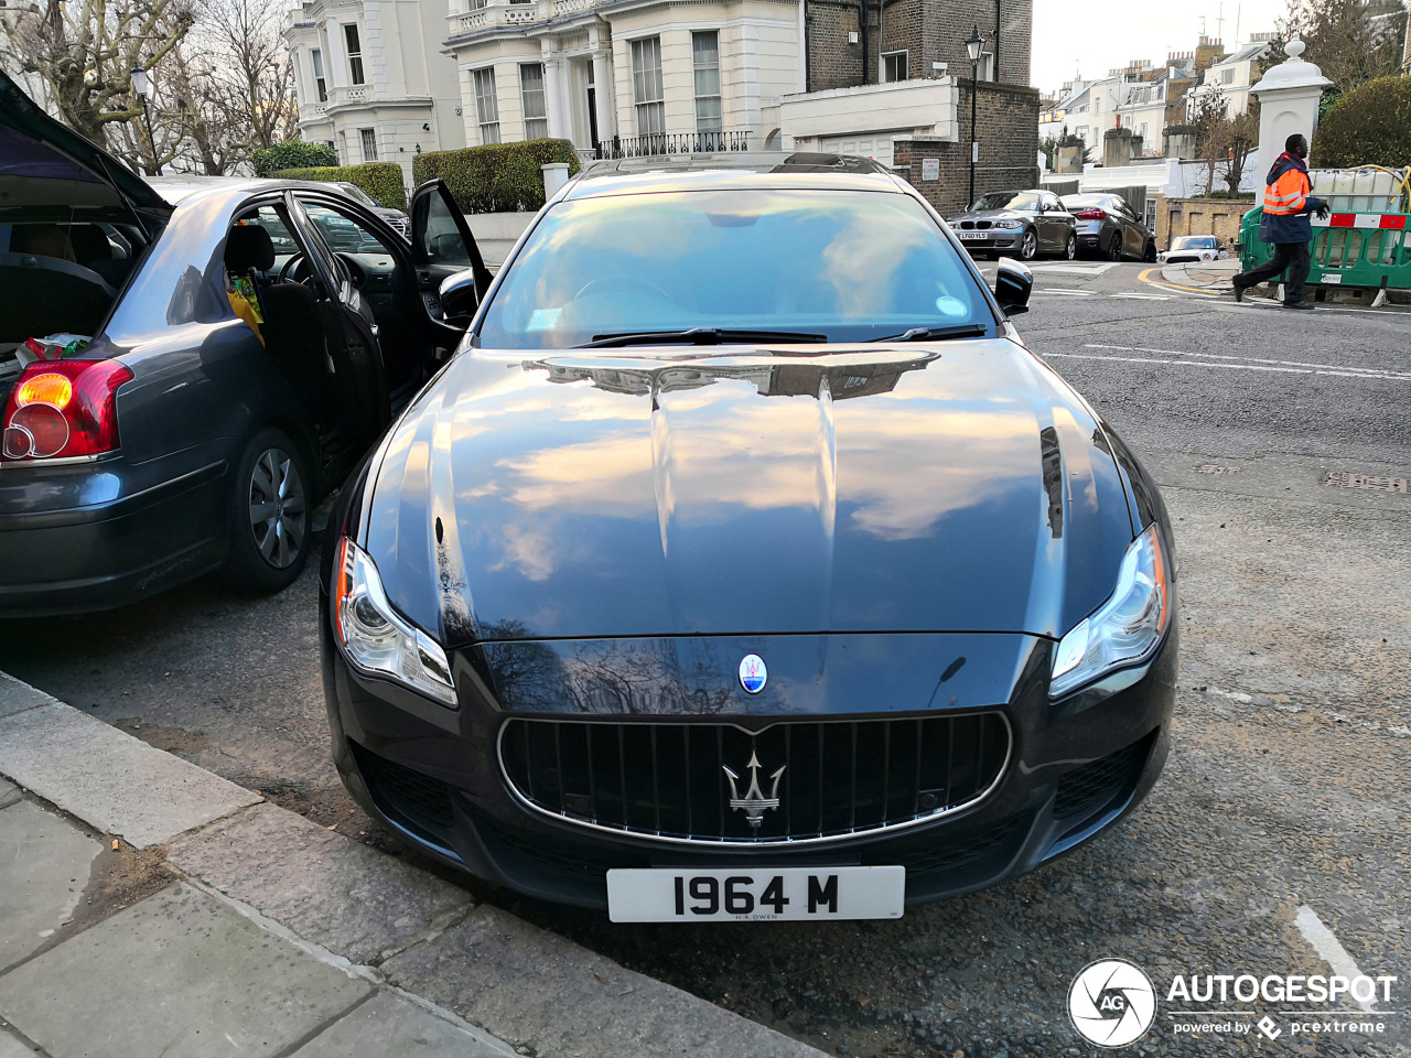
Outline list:
[[[1123,556],[1112,597],[1058,643],[1050,695],[1057,698],[1113,669],[1146,660],[1170,619],[1170,571],[1153,525]]]

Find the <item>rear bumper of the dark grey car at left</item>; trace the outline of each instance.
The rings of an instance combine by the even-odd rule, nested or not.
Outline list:
[[[226,464],[151,485],[121,460],[0,467],[0,618],[137,602],[224,557]]]

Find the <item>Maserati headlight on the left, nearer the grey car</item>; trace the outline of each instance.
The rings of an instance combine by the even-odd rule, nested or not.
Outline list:
[[[346,536],[339,542],[333,612],[343,649],[358,669],[388,676],[442,705],[457,704],[446,652],[392,609],[377,566]]]

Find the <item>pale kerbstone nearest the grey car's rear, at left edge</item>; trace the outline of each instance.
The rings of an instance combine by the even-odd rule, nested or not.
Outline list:
[[[0,773],[140,849],[260,801],[62,703],[0,719]]]

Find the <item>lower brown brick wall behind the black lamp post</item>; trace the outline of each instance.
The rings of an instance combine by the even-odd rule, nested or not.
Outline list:
[[[969,80],[959,82],[959,142],[938,137],[896,141],[893,164],[907,166],[907,179],[943,216],[954,216],[968,205],[971,90]],[[975,196],[1038,186],[1038,89],[981,82],[976,111]],[[940,159],[940,179],[921,179],[924,158]]]

